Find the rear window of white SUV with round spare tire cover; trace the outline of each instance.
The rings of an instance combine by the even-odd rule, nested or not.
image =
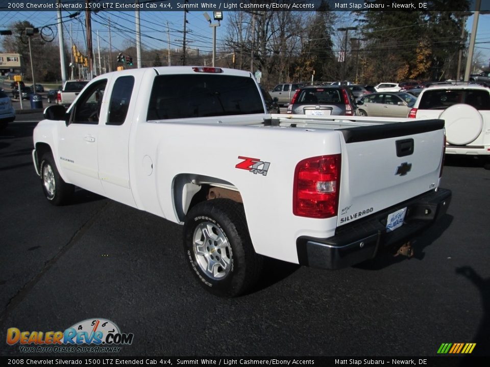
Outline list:
[[[438,89],[422,93],[421,110],[445,110],[457,103],[470,104],[477,110],[490,110],[490,93],[479,89]]]

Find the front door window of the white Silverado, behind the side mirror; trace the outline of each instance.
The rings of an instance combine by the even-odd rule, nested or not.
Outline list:
[[[107,80],[93,83],[74,106],[72,123],[98,124]]]

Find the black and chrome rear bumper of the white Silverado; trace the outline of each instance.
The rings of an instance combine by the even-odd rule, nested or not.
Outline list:
[[[322,269],[340,269],[373,258],[378,251],[410,240],[446,214],[451,191],[430,191],[387,208],[351,224],[338,227],[335,235],[326,239],[299,237],[296,240],[300,265]],[[390,213],[407,207],[404,224],[386,232]]]

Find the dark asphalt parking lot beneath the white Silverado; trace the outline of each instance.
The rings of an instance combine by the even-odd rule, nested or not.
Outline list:
[[[71,205],[47,203],[31,162],[35,122],[20,122],[29,118],[0,132],[3,337],[101,318],[134,334],[120,356],[435,356],[442,343],[490,355],[480,162],[447,159],[451,206],[413,258],[338,271],[270,260],[254,292],[223,299],[192,279],[179,225],[81,190]],[[0,355],[25,354],[0,343]]]

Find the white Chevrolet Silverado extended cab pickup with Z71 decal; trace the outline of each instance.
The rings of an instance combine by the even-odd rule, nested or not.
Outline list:
[[[449,205],[444,121],[266,114],[249,72],[155,67],[94,78],[34,129],[44,195],[74,185],[183,224],[192,274],[247,292],[263,256],[337,269],[401,245]]]

